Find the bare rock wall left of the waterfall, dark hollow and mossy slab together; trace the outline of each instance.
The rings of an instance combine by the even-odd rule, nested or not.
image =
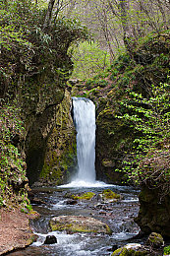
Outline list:
[[[52,89],[49,89],[46,97],[43,96],[44,91],[38,91],[38,100],[34,106],[33,103],[28,104],[30,107],[25,115],[29,184],[39,177],[47,180],[50,176],[56,183],[62,183],[62,172],[66,174],[68,170],[65,157],[71,159],[71,165],[74,161],[76,133],[70,114],[71,97],[60,86],[49,87]]]

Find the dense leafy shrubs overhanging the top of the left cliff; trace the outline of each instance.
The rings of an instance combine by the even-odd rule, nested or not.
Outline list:
[[[67,50],[87,37],[85,26],[76,19],[52,16],[50,28],[43,30],[46,5],[30,0],[1,1],[0,9],[0,96],[14,91],[24,95],[27,78],[34,80],[48,69],[56,84],[66,81],[72,71]]]

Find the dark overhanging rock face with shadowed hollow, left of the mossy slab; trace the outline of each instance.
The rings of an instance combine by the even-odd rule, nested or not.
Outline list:
[[[55,78],[53,80],[47,77],[45,80],[40,79],[36,82],[37,84],[32,84],[28,100],[23,101],[26,127],[24,150],[27,156],[29,184],[39,177],[44,163],[47,141],[55,126],[57,108],[65,94],[64,89],[57,82]]]

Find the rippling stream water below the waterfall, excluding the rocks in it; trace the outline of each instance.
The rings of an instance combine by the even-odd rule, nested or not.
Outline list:
[[[101,193],[105,187],[69,188],[51,187],[34,188],[35,197],[43,204],[34,204],[33,209],[41,217],[32,221],[37,240],[22,251],[10,253],[11,256],[106,256],[111,255],[112,246],[128,243],[139,232],[139,227],[133,219],[138,215],[139,191],[131,187],[110,185],[109,189],[122,195],[122,199],[114,203],[103,203],[94,197],[87,201],[79,201],[75,205],[68,204],[68,194],[93,192]],[[50,231],[49,220],[54,216],[73,215],[86,216],[106,223],[113,230],[111,235],[97,233],[66,233],[65,231]],[[46,245],[46,235],[53,234],[57,243]]]

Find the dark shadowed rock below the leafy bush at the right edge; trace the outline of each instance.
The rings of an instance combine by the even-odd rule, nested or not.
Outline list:
[[[163,236],[170,236],[170,195],[164,195],[160,199],[159,189],[149,189],[142,186],[140,194],[140,212],[136,223],[145,233],[156,231]]]

